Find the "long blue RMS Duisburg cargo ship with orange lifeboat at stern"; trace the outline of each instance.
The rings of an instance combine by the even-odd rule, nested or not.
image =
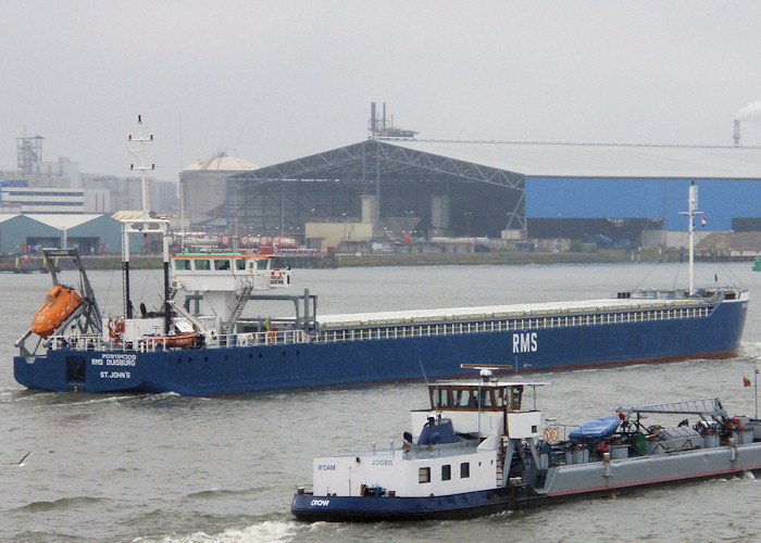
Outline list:
[[[142,146],[152,137],[130,140]],[[145,184],[150,166],[137,169]],[[42,336],[36,323],[15,343],[14,376],[25,387],[50,391],[209,396],[444,378],[461,375],[463,363],[510,365],[522,372],[733,356],[749,293],[694,287],[697,187],[689,197],[687,288],[622,291],[583,302],[324,316],[317,316],[317,299],[308,290],[263,293],[290,283],[290,270],[278,268],[272,255],[235,247],[171,255],[167,222],[144,209],[142,217],[123,222],[124,239],[133,232],[163,238],[162,307],[134,311],[128,243],[123,243],[124,313],[117,316],[101,314],[76,250],[47,249],[53,287],[60,279],[51,262],[70,258],[79,273],[80,300],[57,313],[58,321],[46,325]],[[244,315],[249,302],[264,301],[283,302],[295,313]],[[38,338],[34,348],[27,345],[32,336]]]

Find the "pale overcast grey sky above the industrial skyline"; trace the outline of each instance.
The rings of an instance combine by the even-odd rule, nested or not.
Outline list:
[[[141,113],[159,179],[227,150],[260,166],[366,138],[732,144],[761,99],[754,1],[5,1],[0,169],[126,175]],[[182,118],[182,138],[180,138]],[[745,122],[743,143],[761,144]],[[180,154],[182,139],[182,154]]]

